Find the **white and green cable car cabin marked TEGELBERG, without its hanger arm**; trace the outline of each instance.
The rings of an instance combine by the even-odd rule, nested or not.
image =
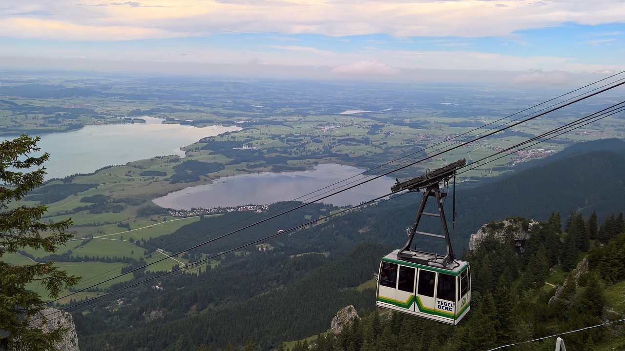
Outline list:
[[[397,259],[398,252],[394,250],[380,262],[377,307],[458,324],[471,307],[469,263],[454,260],[453,268],[432,267]]]

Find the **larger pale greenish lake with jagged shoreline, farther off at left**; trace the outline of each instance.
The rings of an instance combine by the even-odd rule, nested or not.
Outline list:
[[[197,128],[162,124],[163,119],[141,117],[146,123],[84,126],[76,131],[41,134],[37,147],[50,154],[46,179],[63,178],[76,173],[126,164],[156,156],[179,155],[180,150],[203,137],[237,131],[240,127],[211,126]],[[14,139],[17,136],[4,136]]]

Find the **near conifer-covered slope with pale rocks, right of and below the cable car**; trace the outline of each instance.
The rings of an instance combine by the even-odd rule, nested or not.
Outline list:
[[[610,218],[597,227],[594,215],[584,220],[572,214],[562,232],[554,214],[532,230],[522,255],[516,254],[511,237],[482,241],[467,256],[473,277],[471,312],[455,327],[374,311],[339,335],[320,334],[314,344],[298,342],[291,351],[489,350],[623,319],[625,223],[622,214]],[[590,247],[587,260],[582,259],[586,247]],[[566,262],[573,264],[569,267]],[[577,268],[569,275],[558,273],[571,267]],[[623,324],[562,337],[569,350],[622,350]],[[555,338],[550,338],[507,350],[551,351],[554,345]],[[278,350],[285,350],[284,345]]]

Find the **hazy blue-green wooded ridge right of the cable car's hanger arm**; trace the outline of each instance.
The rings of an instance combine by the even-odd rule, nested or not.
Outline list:
[[[625,142],[583,142],[561,154],[483,185],[462,189],[459,184],[457,240],[467,245],[482,224],[511,215],[546,220],[552,212],[566,217],[573,211],[585,216],[596,211],[601,220],[623,209]]]

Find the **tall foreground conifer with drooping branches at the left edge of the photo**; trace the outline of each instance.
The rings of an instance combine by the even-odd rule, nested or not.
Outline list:
[[[31,156],[39,151],[37,141],[38,137],[22,135],[0,143],[0,259],[26,247],[54,252],[72,237],[64,232],[71,225],[70,219],[39,221],[46,206],[11,204],[44,183],[46,172],[41,166],[49,155]],[[43,232],[46,235],[41,235]],[[0,350],[53,350],[66,330],[50,326],[53,330],[48,332],[29,324],[44,309],[44,301],[26,286],[38,282],[48,297],[56,298],[79,280],[53,262],[13,265],[0,261]]]

